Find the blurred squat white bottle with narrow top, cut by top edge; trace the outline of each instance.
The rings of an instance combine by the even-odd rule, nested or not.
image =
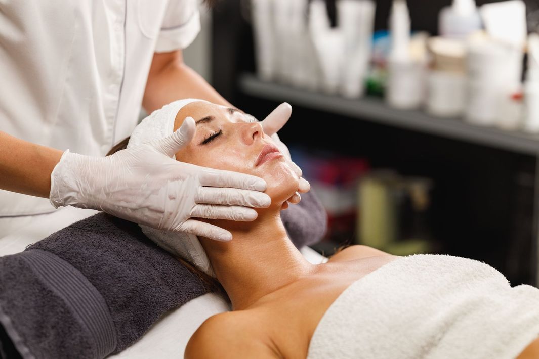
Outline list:
[[[440,11],[438,25],[440,36],[462,40],[481,29],[481,16],[475,0],[453,0],[451,6]]]

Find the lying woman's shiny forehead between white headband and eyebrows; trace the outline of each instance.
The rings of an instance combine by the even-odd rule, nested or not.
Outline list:
[[[176,115],[174,130],[178,129],[182,125],[185,117],[192,117],[195,119],[195,122],[198,122],[199,120],[208,118],[210,116],[213,117],[213,121],[211,121],[212,123],[236,123],[247,121],[247,118],[237,109],[205,101],[196,101],[186,104],[181,110],[179,110],[178,114]],[[201,125],[204,124],[204,122],[201,122]]]

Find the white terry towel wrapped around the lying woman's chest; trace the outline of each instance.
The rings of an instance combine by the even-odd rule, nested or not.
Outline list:
[[[357,280],[329,307],[308,358],[514,358],[539,335],[539,290],[487,264],[416,255]]]

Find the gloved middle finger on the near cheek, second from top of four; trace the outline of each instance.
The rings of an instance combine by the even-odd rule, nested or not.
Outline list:
[[[195,201],[208,205],[233,205],[253,208],[267,208],[271,205],[271,198],[265,193],[221,187],[202,187]]]

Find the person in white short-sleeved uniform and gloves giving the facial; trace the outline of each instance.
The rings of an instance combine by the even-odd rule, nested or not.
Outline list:
[[[8,0],[0,13],[0,238],[75,206],[227,241],[229,231],[192,218],[252,221],[252,208],[269,206],[260,178],[172,159],[188,133],[103,157],[133,131],[141,104],[230,106],[183,62],[200,29],[196,0]],[[262,125],[275,133],[288,116],[274,111]]]

